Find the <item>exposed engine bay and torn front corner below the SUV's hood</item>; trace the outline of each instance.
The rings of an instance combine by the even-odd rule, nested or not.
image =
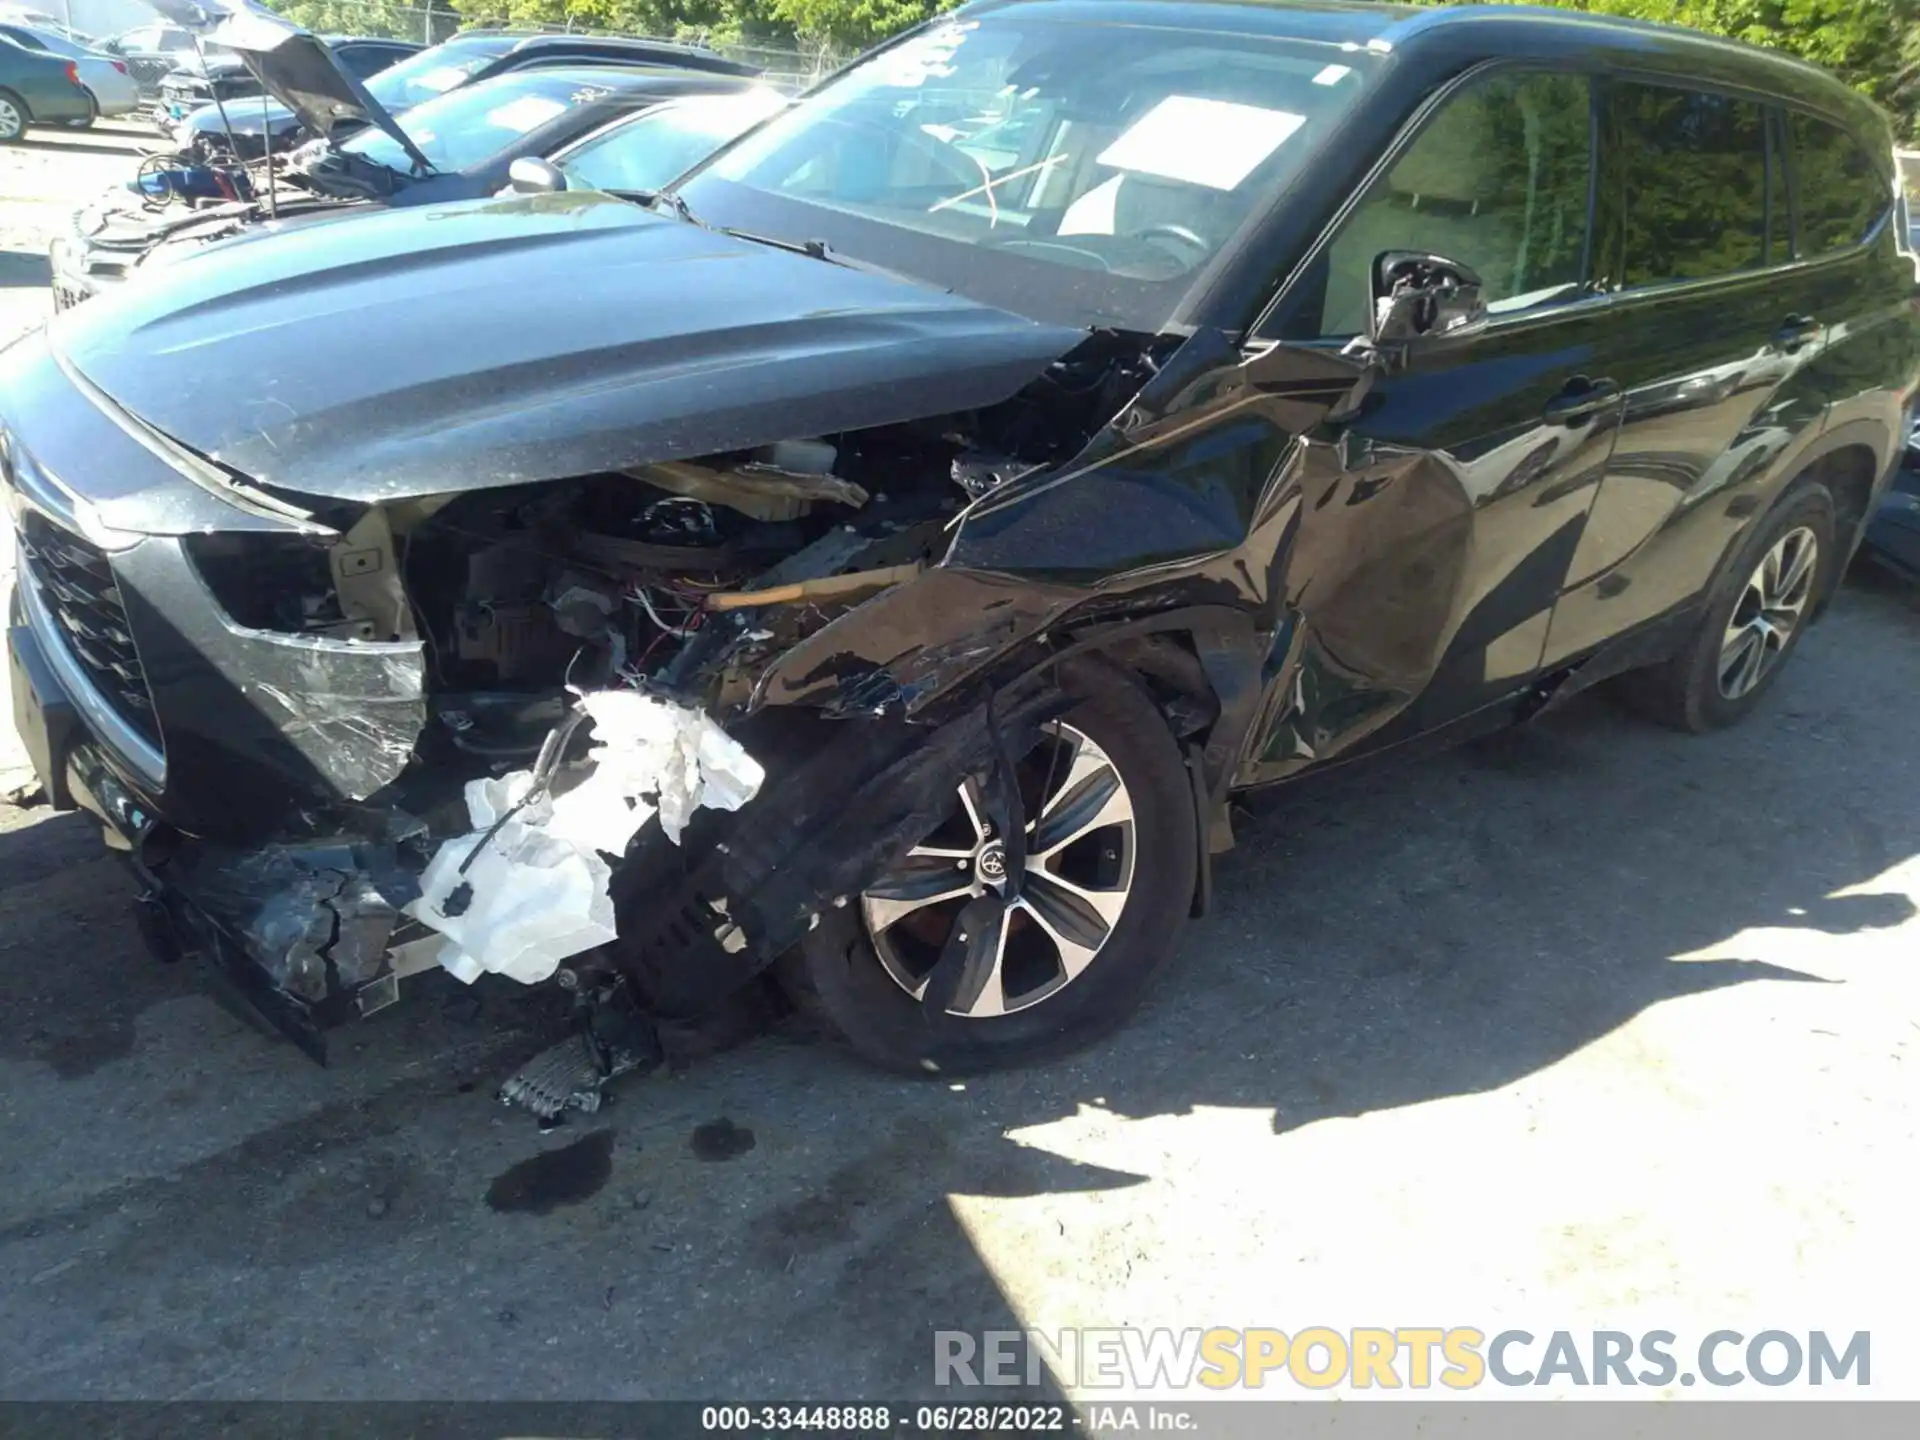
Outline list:
[[[593,1108],[655,1052],[651,1016],[701,1012],[822,902],[820,883],[795,876],[764,914],[730,912],[741,885],[718,877],[751,851],[728,845],[722,816],[780,778],[797,795],[781,843],[799,843],[828,799],[806,799],[799,776],[835,747],[864,764],[876,745],[851,733],[866,726],[818,714],[753,716],[768,662],[935,566],[970,501],[1075,453],[1148,367],[1135,342],[1100,336],[1035,386],[1044,403],[1016,396],[699,461],[317,511],[338,538],[188,538],[240,626],[417,641],[426,724],[336,728],[334,745],[365,743],[369,793],[342,814],[298,816],[284,845],[180,851],[156,891],[192,895],[242,937],[282,993],[255,1002],[292,1000],[294,1039],[315,1052],[323,1025],[390,1004],[424,968],[559,979],[588,1039],[541,1056],[509,1098],[543,1117]],[[1064,415],[1085,428],[1062,430]],[[897,699],[854,693],[837,714],[872,718]],[[902,756],[954,764],[920,756],[922,741]],[[829,760],[816,783],[852,772]],[[292,833],[342,822],[359,833]],[[912,808],[895,824],[910,829]],[[881,826],[874,843],[895,837]],[[783,868],[778,851],[762,868]]]

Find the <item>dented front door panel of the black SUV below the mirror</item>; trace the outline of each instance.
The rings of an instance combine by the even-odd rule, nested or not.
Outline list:
[[[1572,424],[1546,409],[1601,372],[1613,328],[1605,305],[1580,305],[1423,353],[1317,447],[1286,557],[1300,670],[1240,783],[1444,726],[1532,680],[1619,419],[1617,403]]]

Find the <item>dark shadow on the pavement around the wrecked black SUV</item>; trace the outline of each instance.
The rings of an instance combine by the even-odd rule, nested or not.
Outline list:
[[[899,1079],[797,1018],[730,1046],[747,1023],[551,1135],[488,1098],[551,1023],[530,993],[426,977],[319,1071],[182,1000],[106,860],[0,835],[0,872],[40,874],[0,891],[0,1062],[42,1062],[0,1064],[0,1150],[48,1158],[0,1196],[4,1386],[977,1400],[935,1388],[933,1332],[1021,1319],[970,1200],[1156,1181],[1023,1131],[1242,1108],[1292,1133],[1507,1087],[1665,1000],[1845,983],[1843,945],[1811,973],[1736,941],[1912,920],[1872,889],[1920,854],[1910,641],[1897,597],[1849,591],[1734,732],[1601,695],[1277,795],[1144,1012],[1060,1064]],[[125,1044],[61,1071],[35,1025]],[[1052,1380],[991,1398],[1023,1394]]]

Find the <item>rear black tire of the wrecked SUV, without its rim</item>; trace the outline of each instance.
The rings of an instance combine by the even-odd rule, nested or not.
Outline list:
[[[1749,576],[1774,545],[1801,528],[1812,532],[1818,553],[1799,620],[1753,687],[1738,697],[1728,697],[1720,685],[1720,649],[1728,624],[1734,620],[1736,607],[1743,603]],[[1820,599],[1832,589],[1837,555],[1832,492],[1811,476],[1797,480],[1726,561],[1713,584],[1699,624],[1680,651],[1665,664],[1620,676],[1622,699],[1647,718],[1692,733],[1724,730],[1743,720],[1780,678],[1801,636],[1807,634]]]

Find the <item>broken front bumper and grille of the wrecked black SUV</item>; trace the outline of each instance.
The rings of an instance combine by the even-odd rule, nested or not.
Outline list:
[[[394,998],[388,948],[415,895],[401,818],[351,812],[413,755],[419,647],[236,624],[180,534],[104,515],[132,497],[154,528],[259,520],[36,378],[17,396],[35,432],[0,430],[19,561],[13,726],[50,804],[98,818],[138,874],[156,952],[207,958],[248,1010],[321,1054],[328,1023]],[[111,476],[96,495],[58,478],[96,472]]]

